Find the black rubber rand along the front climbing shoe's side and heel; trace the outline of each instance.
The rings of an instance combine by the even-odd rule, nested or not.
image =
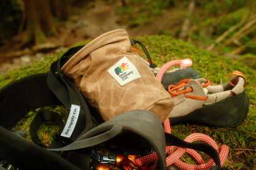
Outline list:
[[[244,122],[248,111],[249,99],[243,91],[239,95],[233,95],[215,102],[215,104],[194,110],[188,115],[170,118],[170,125],[190,123],[228,128],[238,126]]]

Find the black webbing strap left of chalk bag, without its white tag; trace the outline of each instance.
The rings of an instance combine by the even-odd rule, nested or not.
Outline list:
[[[78,90],[78,88],[75,87],[75,85],[70,82],[70,80],[65,79],[60,69],[62,68],[62,65],[65,64],[65,62],[70,58],[74,53],[78,52],[83,46],[70,48],[68,52],[66,52],[60,60],[55,61],[50,66],[49,75],[47,77],[47,85],[49,86],[50,90],[57,96],[57,98],[64,104],[66,108],[71,109],[72,105],[76,105],[81,107],[79,110],[79,117],[76,122],[76,125],[73,129],[73,132],[71,134],[70,139],[76,139],[82,131],[86,132],[89,129],[94,127],[94,124],[92,122],[92,116],[90,114],[90,110],[87,106],[86,101],[84,100],[81,92]],[[60,129],[58,134],[62,134],[63,129]],[[66,138],[58,135],[55,136],[57,139],[63,139],[63,141],[66,141]]]

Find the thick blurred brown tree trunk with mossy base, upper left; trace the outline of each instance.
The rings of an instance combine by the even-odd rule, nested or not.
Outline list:
[[[50,11],[49,0],[24,0],[26,10],[26,28],[24,43],[46,42],[47,36],[57,34],[54,17]]]

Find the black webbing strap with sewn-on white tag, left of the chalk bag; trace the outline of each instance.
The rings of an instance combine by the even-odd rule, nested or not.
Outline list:
[[[70,48],[60,60],[52,63],[47,77],[47,85],[50,90],[70,111],[65,126],[55,135],[55,139],[65,144],[76,139],[82,132],[84,133],[94,127],[90,110],[81,92],[75,87],[74,83],[62,77],[60,71],[62,65],[68,58],[78,52],[82,47]]]

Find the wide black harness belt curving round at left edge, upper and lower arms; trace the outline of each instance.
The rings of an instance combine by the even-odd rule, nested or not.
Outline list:
[[[48,74],[30,75],[0,89],[0,158],[19,169],[79,169],[10,129],[30,110],[62,105],[47,87]]]

